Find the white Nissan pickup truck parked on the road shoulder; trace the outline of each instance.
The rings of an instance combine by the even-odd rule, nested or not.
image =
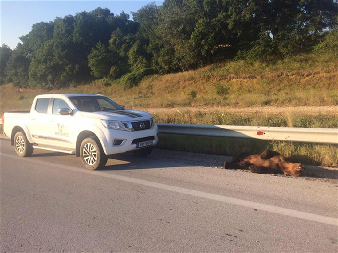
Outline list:
[[[147,156],[158,142],[151,114],[95,94],[38,95],[30,112],[4,113],[3,132],[20,157],[34,148],[75,154],[91,170],[103,167],[110,154]]]

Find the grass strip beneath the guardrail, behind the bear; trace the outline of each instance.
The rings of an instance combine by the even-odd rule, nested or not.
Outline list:
[[[242,152],[260,153],[269,148],[288,157],[290,162],[329,167],[338,165],[338,146],[331,144],[160,134],[157,147],[223,156],[236,156]]]

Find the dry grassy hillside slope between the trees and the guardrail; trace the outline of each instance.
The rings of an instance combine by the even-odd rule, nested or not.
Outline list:
[[[193,71],[146,77],[123,89],[121,80],[96,80],[59,90],[19,90],[1,86],[0,111],[29,109],[41,93],[100,93],[131,108],[335,106],[338,60],[302,55],[275,63],[228,61]]]

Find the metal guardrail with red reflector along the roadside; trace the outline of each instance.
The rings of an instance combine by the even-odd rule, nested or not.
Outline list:
[[[162,134],[255,138],[260,140],[338,144],[338,129],[163,123],[158,123],[157,125],[159,132]]]

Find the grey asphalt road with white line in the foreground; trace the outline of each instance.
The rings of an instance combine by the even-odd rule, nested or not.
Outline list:
[[[338,252],[337,184],[206,164],[156,150],[89,171],[0,139],[0,252]]]

